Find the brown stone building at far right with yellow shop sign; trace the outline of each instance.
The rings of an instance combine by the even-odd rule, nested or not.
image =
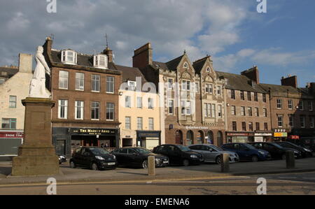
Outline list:
[[[281,78],[281,85],[260,84],[270,95],[271,125],[275,140],[315,139],[315,83],[297,87],[297,76]]]

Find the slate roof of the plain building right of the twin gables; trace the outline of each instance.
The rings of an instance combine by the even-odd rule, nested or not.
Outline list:
[[[223,76],[224,79],[228,79],[228,84],[225,86],[225,88],[227,89],[235,89],[246,92],[267,93],[267,91],[260,87],[260,85],[257,85],[255,83],[253,85],[250,85],[249,83],[251,82],[251,80],[245,75],[237,75],[234,73],[225,73],[220,71],[216,71],[216,75],[218,77]]]

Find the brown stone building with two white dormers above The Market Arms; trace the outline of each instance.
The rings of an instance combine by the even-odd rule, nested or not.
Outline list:
[[[80,145],[119,147],[118,89],[121,72],[106,48],[97,55],[54,50],[47,38],[44,56],[51,69],[52,142],[57,154]]]

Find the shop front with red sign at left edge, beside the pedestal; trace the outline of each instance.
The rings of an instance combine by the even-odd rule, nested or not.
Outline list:
[[[0,131],[0,156],[17,156],[23,138],[23,131]]]

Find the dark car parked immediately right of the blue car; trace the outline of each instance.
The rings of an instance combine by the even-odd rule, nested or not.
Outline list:
[[[257,149],[268,151],[273,159],[286,159],[286,151],[288,150],[293,151],[296,158],[301,156],[301,152],[292,148],[282,147],[276,143],[255,142],[248,144],[253,145],[253,147],[256,147]]]

